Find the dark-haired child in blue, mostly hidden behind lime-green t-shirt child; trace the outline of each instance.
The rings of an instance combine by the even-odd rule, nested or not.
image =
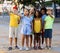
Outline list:
[[[42,14],[42,45],[44,43],[44,19],[46,18],[46,8],[41,8]]]

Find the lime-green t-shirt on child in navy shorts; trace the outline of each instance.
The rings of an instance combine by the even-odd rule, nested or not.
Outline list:
[[[52,27],[53,27],[53,22],[54,22],[54,18],[51,18],[49,15],[48,16],[46,16],[46,18],[45,18],[45,26],[44,26],[44,28],[45,29],[52,29]]]

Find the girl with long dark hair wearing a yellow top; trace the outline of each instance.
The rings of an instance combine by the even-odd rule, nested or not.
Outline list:
[[[42,49],[41,48],[41,30],[42,30],[42,20],[41,13],[39,10],[36,10],[34,20],[33,20],[33,32],[34,32],[34,49]],[[37,44],[37,45],[36,45]]]

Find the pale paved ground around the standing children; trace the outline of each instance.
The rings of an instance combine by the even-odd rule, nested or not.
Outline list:
[[[30,51],[19,51],[14,49],[8,51],[9,46],[9,26],[8,24],[0,24],[0,53],[60,53],[60,23],[55,23],[53,27],[53,41],[51,50],[30,50]],[[21,35],[19,34],[18,45],[21,46]],[[14,46],[14,43],[13,43]]]

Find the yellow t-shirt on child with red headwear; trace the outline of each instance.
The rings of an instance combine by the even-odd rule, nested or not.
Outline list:
[[[10,13],[10,26],[11,27],[18,27],[18,20],[20,20],[20,17],[13,14],[13,13]]]

